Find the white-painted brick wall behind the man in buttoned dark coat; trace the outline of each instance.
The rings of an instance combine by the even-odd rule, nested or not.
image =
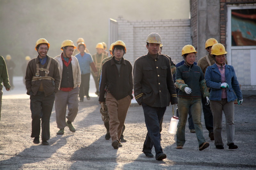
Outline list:
[[[148,53],[148,34],[159,33],[163,43],[162,53],[172,57],[176,63],[182,60],[181,49],[191,44],[190,19],[136,20],[127,21],[119,17],[118,39],[124,41],[127,53],[124,58],[132,65],[134,61]]]

